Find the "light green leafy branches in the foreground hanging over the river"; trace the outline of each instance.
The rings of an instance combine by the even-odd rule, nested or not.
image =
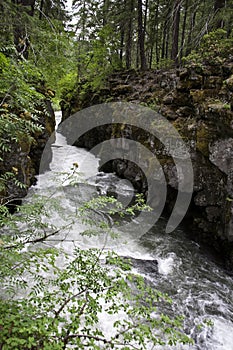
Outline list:
[[[98,197],[61,227],[51,224],[55,211],[63,215],[57,199],[38,197],[16,215],[1,206],[1,349],[127,350],[192,343],[182,330],[183,317],[158,311],[170,298],[133,273],[130,260],[105,247],[83,250],[75,242],[69,255],[50,247],[57,234],[66,237],[73,220],[85,212],[91,219],[96,209],[107,214],[109,205],[112,214],[120,208],[123,215],[115,199]],[[125,214],[141,208],[147,210],[139,197]],[[97,230],[108,232],[111,221],[105,227],[95,222]],[[108,334],[101,327],[103,317],[109,319]]]

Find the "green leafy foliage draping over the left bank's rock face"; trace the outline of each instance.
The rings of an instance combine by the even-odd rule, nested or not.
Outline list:
[[[48,114],[45,96],[38,92],[44,84],[39,71],[27,61],[16,61],[0,54],[0,162],[1,192],[13,182],[23,188],[18,169],[7,168],[6,159],[18,148],[26,151],[40,135],[41,114]],[[11,156],[12,157],[12,156]]]

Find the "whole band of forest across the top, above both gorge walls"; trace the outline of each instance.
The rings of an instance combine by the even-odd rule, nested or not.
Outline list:
[[[73,0],[72,11],[67,5],[0,2],[0,52],[29,60],[58,95],[77,78],[182,65],[219,28],[220,39],[232,38],[231,0]]]

